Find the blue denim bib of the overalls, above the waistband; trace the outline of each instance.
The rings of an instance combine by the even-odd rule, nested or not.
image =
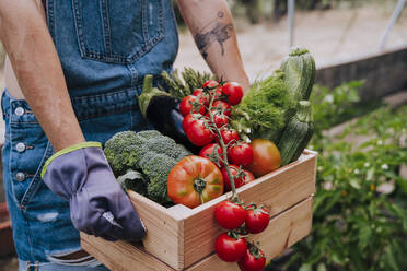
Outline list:
[[[72,97],[138,87],[146,74],[172,70],[171,0],[48,0],[46,11]]]

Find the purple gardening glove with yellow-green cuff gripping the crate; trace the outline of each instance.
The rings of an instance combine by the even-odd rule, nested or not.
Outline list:
[[[107,240],[140,240],[146,227],[116,181],[98,142],[55,153],[44,165],[48,188],[69,200],[73,226]]]

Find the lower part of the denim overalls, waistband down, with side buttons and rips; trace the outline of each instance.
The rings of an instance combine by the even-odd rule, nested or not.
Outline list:
[[[92,257],[60,258],[80,251],[81,244],[68,201],[40,178],[53,146],[26,101],[11,97],[5,90],[1,106],[5,120],[4,188],[20,270],[106,270],[95,268],[101,263]],[[72,106],[88,141],[104,144],[116,132],[146,127],[136,87],[73,97]]]

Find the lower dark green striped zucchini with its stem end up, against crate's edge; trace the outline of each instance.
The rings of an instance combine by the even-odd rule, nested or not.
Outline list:
[[[312,107],[309,101],[300,101],[296,114],[291,118],[278,143],[282,163],[298,160],[314,133]]]

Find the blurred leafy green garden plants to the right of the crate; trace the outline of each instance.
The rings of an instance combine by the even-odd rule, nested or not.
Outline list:
[[[313,229],[288,261],[267,270],[407,270],[407,181],[398,174],[407,162],[400,144],[407,106],[380,107],[342,134],[323,137],[359,101],[357,85],[313,99],[319,130],[312,142],[319,152]]]

